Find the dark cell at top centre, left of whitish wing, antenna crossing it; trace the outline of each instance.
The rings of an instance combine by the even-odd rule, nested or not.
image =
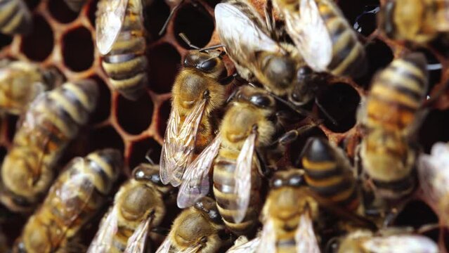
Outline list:
[[[214,32],[213,18],[207,13],[204,7],[200,5],[197,5],[197,7],[191,4],[183,6],[178,11],[175,18],[174,34],[181,46],[191,49],[190,46],[178,36],[180,32],[186,34],[193,45],[200,48],[206,46],[212,37],[212,32]]]

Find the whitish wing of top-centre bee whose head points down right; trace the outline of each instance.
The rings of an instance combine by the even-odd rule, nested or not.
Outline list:
[[[257,13],[258,14],[258,13]],[[216,30],[226,51],[240,63],[253,64],[260,51],[280,52],[282,48],[266,32],[232,4],[215,6]]]

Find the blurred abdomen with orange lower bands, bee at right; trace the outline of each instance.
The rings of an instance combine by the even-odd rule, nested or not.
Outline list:
[[[365,125],[408,134],[427,92],[426,60],[420,53],[393,60],[372,84]]]

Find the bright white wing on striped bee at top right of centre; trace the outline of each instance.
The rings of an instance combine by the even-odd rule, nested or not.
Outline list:
[[[285,29],[313,70],[323,72],[332,60],[332,39],[315,0],[298,0],[299,10],[283,12]]]

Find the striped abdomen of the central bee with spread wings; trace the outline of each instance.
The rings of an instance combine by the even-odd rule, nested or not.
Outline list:
[[[253,162],[251,199],[249,200],[247,214],[241,223],[234,222],[233,213],[235,213],[235,210],[230,209],[230,205],[232,206],[230,203],[235,203],[237,200],[237,195],[233,194],[235,185],[233,173],[239,151],[227,150],[222,147],[214,164],[214,195],[216,206],[223,217],[226,227],[236,235],[242,235],[251,231],[259,219],[259,207],[261,205],[261,179],[256,169],[256,164]],[[236,204],[233,206],[236,206]]]

